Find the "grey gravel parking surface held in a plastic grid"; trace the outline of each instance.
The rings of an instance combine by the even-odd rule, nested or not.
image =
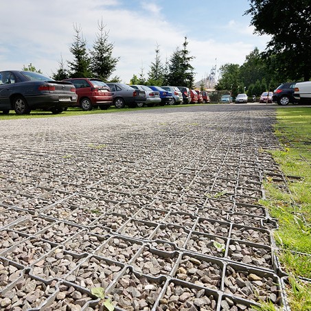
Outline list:
[[[283,303],[262,181],[275,107],[1,120],[1,310]],[[284,183],[285,184],[285,183]]]

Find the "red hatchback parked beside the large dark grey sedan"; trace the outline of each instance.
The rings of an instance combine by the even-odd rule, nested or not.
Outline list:
[[[63,81],[71,82],[76,87],[78,101],[75,106],[80,106],[84,111],[100,107],[102,110],[113,104],[113,95],[108,85],[99,79],[71,78]]]

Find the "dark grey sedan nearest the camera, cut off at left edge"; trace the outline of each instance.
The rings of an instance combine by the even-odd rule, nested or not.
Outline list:
[[[0,111],[25,115],[34,109],[61,113],[77,102],[70,82],[55,81],[32,71],[0,71]]]

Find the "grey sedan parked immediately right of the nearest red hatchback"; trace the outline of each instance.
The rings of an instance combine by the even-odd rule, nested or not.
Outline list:
[[[135,90],[124,83],[107,83],[107,85],[110,87],[111,94],[113,95],[115,108],[124,108],[126,105],[134,108],[137,104],[146,103],[145,91]]]

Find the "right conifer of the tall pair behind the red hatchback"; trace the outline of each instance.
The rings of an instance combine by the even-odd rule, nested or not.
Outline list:
[[[91,71],[94,78],[101,80],[108,80],[115,67],[119,58],[113,57],[113,43],[108,42],[108,34],[104,28],[106,25],[103,25],[98,22],[99,32],[96,34],[96,40],[93,44],[93,50],[90,51],[91,54]]]

